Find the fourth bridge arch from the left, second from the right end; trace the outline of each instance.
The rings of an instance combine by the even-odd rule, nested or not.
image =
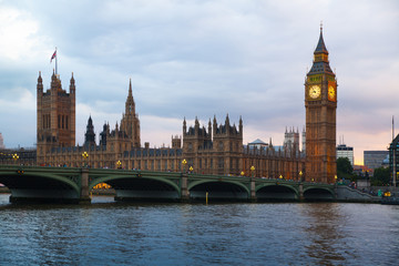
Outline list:
[[[287,184],[260,184],[255,187],[256,198],[263,201],[296,201],[299,198],[299,192]]]

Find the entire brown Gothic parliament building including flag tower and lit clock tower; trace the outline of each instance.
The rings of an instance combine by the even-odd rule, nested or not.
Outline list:
[[[213,175],[245,175],[269,178],[332,183],[336,175],[337,82],[328,61],[320,29],[310,71],[305,79],[306,142],[299,150],[298,132],[286,131],[283,147],[273,143],[243,143],[243,120],[232,123],[209,119],[201,125],[184,119],[181,136],[172,136],[170,147],[141,144],[140,119],[132,83],[129,83],[124,113],[114,126],[105,123],[99,134],[88,120],[82,146],[75,145],[75,81],[69,92],[55,73],[50,89],[43,91],[39,72],[37,84],[37,164],[52,166],[109,167],[149,171],[192,171]],[[82,154],[86,154],[82,156]]]

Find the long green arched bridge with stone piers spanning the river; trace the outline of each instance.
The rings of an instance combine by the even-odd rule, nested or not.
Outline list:
[[[10,202],[90,202],[100,183],[115,190],[115,200],[144,201],[334,201],[329,184],[246,176],[201,175],[136,170],[0,166],[0,183],[11,191]]]

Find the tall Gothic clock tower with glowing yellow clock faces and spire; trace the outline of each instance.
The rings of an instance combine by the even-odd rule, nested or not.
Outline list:
[[[306,181],[334,183],[336,163],[337,80],[320,37],[305,81]]]

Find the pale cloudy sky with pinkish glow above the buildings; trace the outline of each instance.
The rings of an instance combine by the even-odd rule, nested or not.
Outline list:
[[[338,80],[337,144],[386,150],[399,124],[397,0],[0,0],[0,132],[33,147],[37,82],[76,84],[76,144],[120,123],[132,80],[141,141],[171,146],[184,117],[244,123],[244,144],[305,126],[305,78],[323,21]],[[399,133],[396,130],[396,134]]]

